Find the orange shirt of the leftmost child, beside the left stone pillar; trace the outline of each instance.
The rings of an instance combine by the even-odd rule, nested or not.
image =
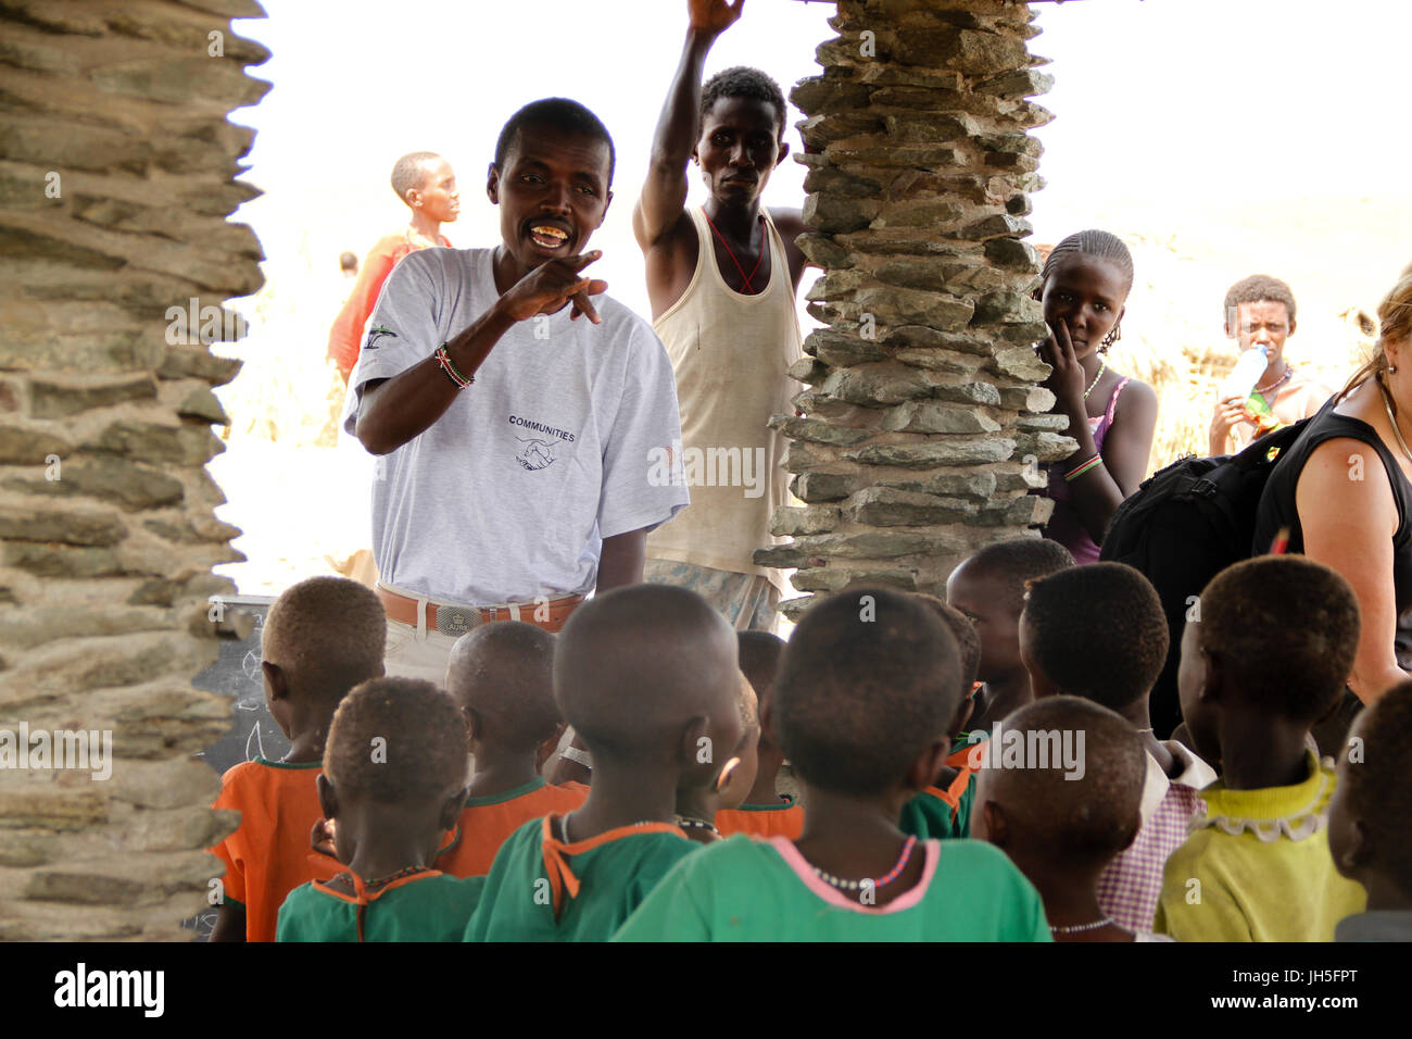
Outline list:
[[[212,807],[239,811],[240,828],[210,852],[226,864],[225,896],[246,908],[246,941],[274,941],[285,896],[343,868],[309,847],[309,833],[323,818],[313,785],[321,768],[256,758],[220,777]]]

